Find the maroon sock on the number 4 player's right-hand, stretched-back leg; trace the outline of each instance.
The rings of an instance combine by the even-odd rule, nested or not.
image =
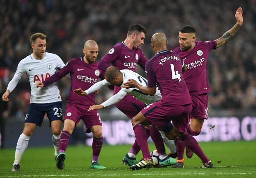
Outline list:
[[[208,157],[203,153],[203,150],[198,145],[197,140],[191,136],[189,133],[185,133],[181,140],[185,143],[186,147],[190,148],[198,157],[202,160],[203,163],[209,161]]]

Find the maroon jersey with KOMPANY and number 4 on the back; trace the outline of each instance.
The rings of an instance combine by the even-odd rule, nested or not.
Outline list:
[[[148,87],[156,84],[165,106],[182,106],[192,103],[186,82],[182,76],[183,61],[170,51],[162,51],[146,63]]]

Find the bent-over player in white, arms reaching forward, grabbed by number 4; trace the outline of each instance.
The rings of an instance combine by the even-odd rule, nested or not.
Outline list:
[[[140,76],[136,72],[133,72],[129,69],[122,69],[119,70],[117,67],[111,66],[106,69],[105,72],[105,79],[102,81],[99,81],[95,84],[93,84],[89,89],[86,91],[83,91],[81,88],[74,90],[75,93],[81,95],[81,96],[87,96],[88,94],[94,93],[95,91],[99,90],[101,87],[108,86],[109,84],[122,86],[123,83],[128,81],[129,79],[134,79],[139,84],[147,86],[147,79]],[[153,102],[159,101],[162,96],[160,91],[157,89],[156,94],[154,96],[149,96],[146,94],[143,94],[139,89],[137,88],[122,88],[117,94],[110,97],[105,102],[101,103],[100,105],[94,105],[89,108],[88,111],[94,110],[94,109],[103,109],[107,106],[110,106],[112,104],[115,104],[122,100],[125,95],[131,94],[138,100],[144,102],[146,105],[150,105]],[[169,148],[170,153],[176,154],[176,146],[173,140],[167,139],[167,137],[164,134],[164,131],[166,133],[169,133],[169,127],[172,127],[172,123],[169,122],[165,127],[162,128],[162,131],[160,131],[162,135],[162,139],[165,142],[165,145]],[[170,136],[172,137],[172,136]]]

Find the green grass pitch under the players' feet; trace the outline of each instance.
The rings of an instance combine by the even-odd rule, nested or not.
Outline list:
[[[66,167],[58,170],[53,160],[53,148],[28,148],[22,157],[20,172],[10,172],[15,149],[0,150],[0,178],[241,178],[256,177],[256,142],[200,143],[215,168],[199,168],[202,163],[194,155],[185,158],[184,169],[152,168],[131,171],[122,158],[131,145],[103,145],[100,164],[105,170],[92,170],[91,147],[70,146],[66,151]],[[150,150],[155,149],[150,144]],[[141,154],[137,160],[140,160]],[[219,162],[219,163],[218,163]]]

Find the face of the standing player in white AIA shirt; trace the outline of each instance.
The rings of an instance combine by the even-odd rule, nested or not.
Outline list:
[[[38,59],[43,59],[46,50],[46,39],[37,38],[35,43],[31,44],[33,53]]]

